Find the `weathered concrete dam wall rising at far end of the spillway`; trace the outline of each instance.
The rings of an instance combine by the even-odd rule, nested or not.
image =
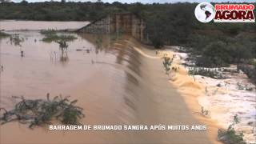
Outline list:
[[[89,34],[129,34],[140,42],[148,43],[146,22],[131,13],[108,14],[82,27],[78,32]]]

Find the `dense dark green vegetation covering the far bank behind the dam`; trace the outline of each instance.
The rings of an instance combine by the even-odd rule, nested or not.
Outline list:
[[[255,23],[202,23],[197,3],[122,4],[120,2],[2,2],[0,18],[46,21],[94,21],[106,14],[132,12],[146,20],[146,33],[157,48],[185,46],[198,66],[251,63],[256,58]],[[255,13],[255,10],[254,10]],[[256,15],[256,14],[254,14]]]

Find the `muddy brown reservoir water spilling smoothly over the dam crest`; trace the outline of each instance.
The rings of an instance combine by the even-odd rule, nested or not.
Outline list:
[[[167,81],[160,59],[143,57],[142,47],[124,36],[111,41],[77,35],[62,54],[55,42],[42,42],[38,31],[10,31],[24,38],[14,46],[9,38],[1,44],[1,107],[14,106],[12,95],[46,98],[62,94],[78,99],[84,108],[84,125],[197,125],[184,100]],[[130,42],[127,42],[130,41]],[[24,57],[20,51],[24,51]],[[153,50],[147,54],[154,55]],[[206,131],[191,130],[82,130],[50,131],[48,126],[30,130],[10,122],[0,126],[0,143],[210,143]]]

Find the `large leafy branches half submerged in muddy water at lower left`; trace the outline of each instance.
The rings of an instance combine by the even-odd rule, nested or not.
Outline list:
[[[82,108],[75,106],[78,100],[70,102],[70,96],[62,98],[62,95],[59,95],[50,99],[50,94],[47,94],[46,99],[13,98],[18,98],[20,101],[13,110],[0,108],[3,111],[0,115],[1,124],[18,121],[22,124],[28,123],[29,127],[33,128],[50,124],[52,120],[57,119],[66,125],[79,125],[79,119],[85,116],[82,114]]]

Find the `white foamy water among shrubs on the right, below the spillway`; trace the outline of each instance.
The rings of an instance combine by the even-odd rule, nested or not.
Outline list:
[[[186,53],[176,53],[182,63],[189,64],[185,59]],[[236,69],[236,66],[231,66]],[[218,124],[227,128],[238,114],[240,122],[234,126],[242,131],[248,143],[256,143],[256,90],[246,74],[226,72],[227,79],[214,79],[195,75],[197,82],[206,86],[206,95],[199,97],[198,102],[206,110],[210,110],[210,117]],[[220,86],[217,86],[220,85]],[[245,90],[244,88],[252,88]]]

